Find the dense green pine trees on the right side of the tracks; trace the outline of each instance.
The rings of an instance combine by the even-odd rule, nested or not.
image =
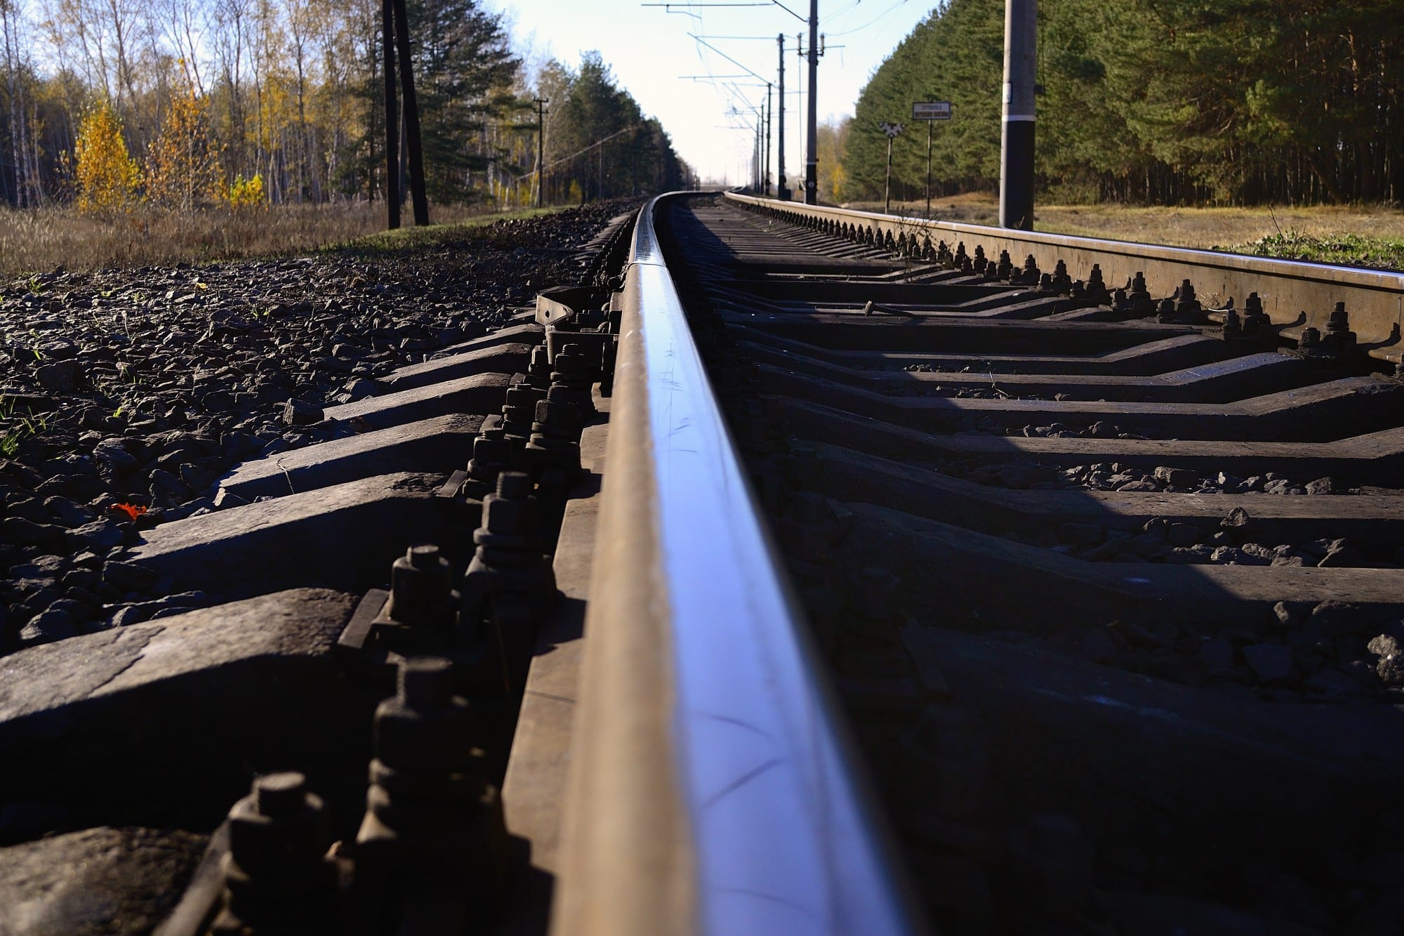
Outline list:
[[[1060,197],[1146,202],[1404,197],[1400,0],[1040,0],[1038,174]],[[920,198],[927,132],[911,103],[948,100],[936,191],[998,186],[1004,0],[945,0],[855,107],[844,198]]]

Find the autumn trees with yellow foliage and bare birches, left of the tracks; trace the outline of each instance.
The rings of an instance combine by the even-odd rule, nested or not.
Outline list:
[[[528,74],[479,0],[409,17],[432,201],[532,200],[534,97],[552,98],[548,163],[615,135],[602,173],[595,150],[562,160],[548,195],[687,173],[598,55]],[[380,198],[382,67],[376,0],[0,0],[0,204],[77,201],[91,178],[174,208]]]

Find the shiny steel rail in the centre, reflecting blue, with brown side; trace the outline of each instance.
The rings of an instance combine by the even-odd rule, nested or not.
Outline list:
[[[625,285],[559,935],[915,929],[660,250]]]

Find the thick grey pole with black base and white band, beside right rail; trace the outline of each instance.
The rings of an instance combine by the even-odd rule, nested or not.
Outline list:
[[[1033,67],[1038,0],[1004,0],[1000,226],[1033,230]]]

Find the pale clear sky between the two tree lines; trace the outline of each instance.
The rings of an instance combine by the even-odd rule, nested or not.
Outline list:
[[[715,6],[719,3],[731,6]],[[765,100],[761,79],[747,70],[776,80],[775,37],[783,32],[785,171],[790,187],[802,190],[804,111],[796,91],[800,82],[806,94],[809,87],[807,66],[796,55],[795,42],[796,34],[804,32],[809,45],[803,21],[809,17],[806,0],[785,0],[783,8],[765,0],[696,0],[667,8],[644,6],[642,0],[487,0],[487,6],[505,14],[528,65],[550,56],[578,67],[580,53],[597,49],[643,112],[663,122],[682,159],[703,178],[731,183],[750,176],[754,142],[750,126],[757,121],[754,108]],[[819,30],[827,35],[826,53],[819,60],[820,121],[852,115],[868,77],[932,7],[932,0],[819,4]],[[774,134],[772,126],[772,138]],[[771,162],[774,174],[774,155]]]

